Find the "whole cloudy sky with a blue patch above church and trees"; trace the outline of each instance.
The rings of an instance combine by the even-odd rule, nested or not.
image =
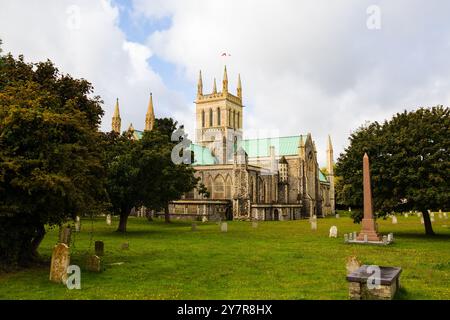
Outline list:
[[[0,39],[91,81],[102,130],[116,97],[122,127],[142,129],[151,91],[157,117],[193,137],[198,71],[210,91],[226,64],[231,90],[242,77],[246,135],[310,132],[323,165],[328,134],[338,154],[368,120],[450,104],[449,12],[444,0],[0,0]]]

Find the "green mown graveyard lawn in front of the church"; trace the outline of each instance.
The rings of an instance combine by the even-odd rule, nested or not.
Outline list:
[[[379,221],[382,234],[393,232],[387,247],[348,245],[343,234],[359,231],[348,217],[307,220],[216,223],[130,218],[126,235],[114,232],[118,220],[82,219],[72,236],[71,264],[79,265],[81,290],[49,281],[56,229],[48,230],[40,253],[48,266],[0,274],[0,299],[348,299],[346,261],[402,267],[398,299],[450,299],[450,221],[436,219],[437,236],[424,235],[420,218]],[[329,238],[330,227],[338,238]],[[91,237],[91,226],[93,236]],[[94,242],[104,241],[104,271],[84,269]],[[127,250],[122,244],[129,242]]]

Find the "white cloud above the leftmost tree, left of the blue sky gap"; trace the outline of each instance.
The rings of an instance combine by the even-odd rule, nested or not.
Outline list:
[[[3,51],[24,54],[27,61],[48,58],[62,72],[92,82],[105,101],[103,130],[111,129],[116,97],[122,129],[130,122],[143,129],[150,90],[162,105],[176,109],[183,102],[147,63],[151,50],[127,41],[118,22],[118,8],[106,0],[2,0],[0,39]],[[162,109],[162,115],[170,113]],[[161,109],[156,111],[161,115]]]

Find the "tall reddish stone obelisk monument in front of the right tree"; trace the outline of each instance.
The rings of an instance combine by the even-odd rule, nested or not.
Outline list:
[[[362,229],[357,240],[364,241],[367,235],[367,241],[381,241],[375,228],[375,219],[373,218],[372,190],[370,187],[370,169],[369,156],[364,154],[363,159],[363,185],[364,185],[364,218],[362,220]]]

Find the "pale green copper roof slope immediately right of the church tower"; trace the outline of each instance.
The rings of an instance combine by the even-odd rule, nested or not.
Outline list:
[[[278,137],[265,139],[242,140],[242,148],[247,152],[249,158],[270,156],[270,147],[275,147],[276,156],[298,155],[298,147],[301,136]],[[303,136],[306,141],[307,136]]]

